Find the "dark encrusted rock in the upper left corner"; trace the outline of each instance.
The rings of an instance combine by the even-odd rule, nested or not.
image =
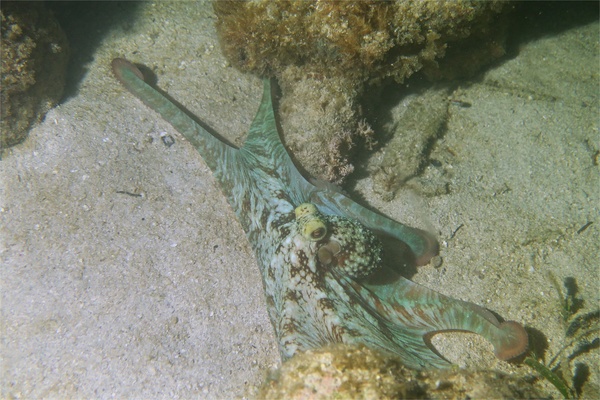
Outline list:
[[[0,148],[6,148],[23,141],[31,125],[60,100],[68,45],[43,2],[3,1],[0,11]]]

